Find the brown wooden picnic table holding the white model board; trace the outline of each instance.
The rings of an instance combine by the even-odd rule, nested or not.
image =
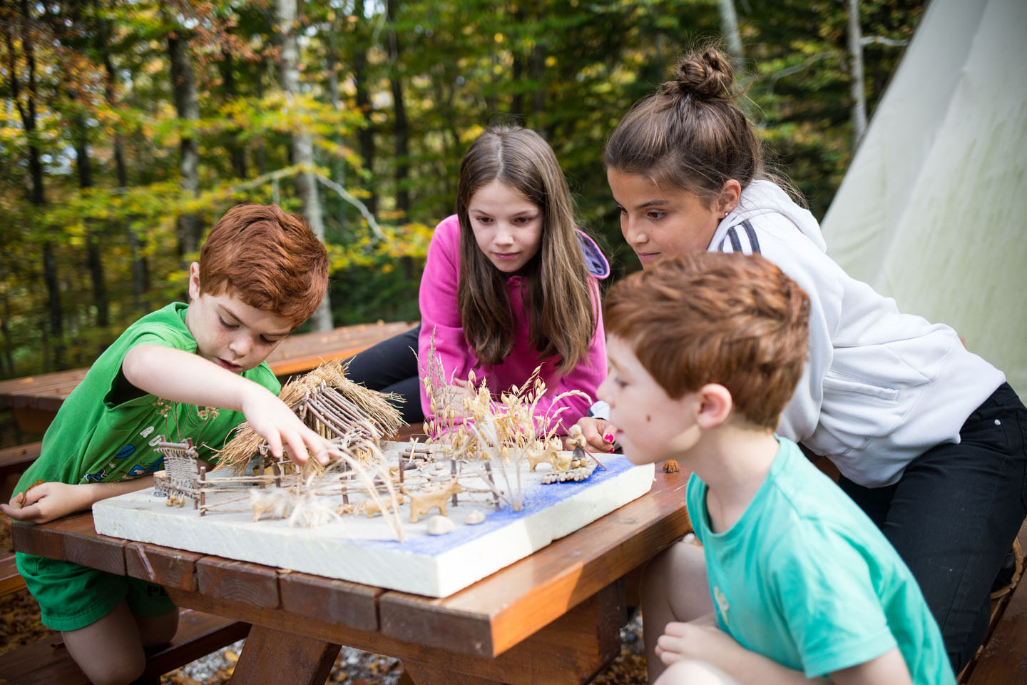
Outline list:
[[[649,493],[443,599],[98,535],[91,512],[12,537],[252,623],[233,683],[321,685],[340,645],[398,657],[418,685],[586,683],[619,652],[625,576],[691,530],[687,480],[657,468]]]

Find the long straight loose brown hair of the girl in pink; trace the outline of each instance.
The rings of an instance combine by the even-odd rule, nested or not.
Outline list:
[[[529,342],[539,358],[559,354],[561,373],[585,357],[599,308],[575,232],[574,202],[549,145],[533,130],[493,126],[479,136],[460,161],[456,213],[460,220],[457,299],[467,344],[484,364],[497,365],[514,348],[506,276],[474,241],[467,205],[482,187],[500,181],[542,212],[542,238],[521,271]]]

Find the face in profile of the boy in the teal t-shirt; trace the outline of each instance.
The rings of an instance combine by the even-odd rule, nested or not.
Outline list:
[[[694,444],[695,394],[672,399],[646,371],[635,348],[622,338],[606,337],[609,373],[598,395],[610,404],[610,422],[617,442],[635,464],[677,458]]]

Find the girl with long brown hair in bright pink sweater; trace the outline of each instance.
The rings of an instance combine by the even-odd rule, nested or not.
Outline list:
[[[468,372],[477,384],[487,382],[499,393],[521,387],[541,367],[546,393],[536,415],[560,412],[553,425],[561,422],[558,433],[566,433],[589,402],[557,395],[580,390],[595,397],[606,377],[599,279],[609,275],[609,265],[576,229],[553,149],[526,128],[487,129],[460,162],[456,210],[435,227],[421,277],[422,371],[433,344],[460,411],[462,396],[477,391],[466,383]],[[351,366],[355,380],[369,387],[375,387],[371,376],[389,369],[385,389],[406,390],[408,408],[413,384],[405,379],[418,373],[406,349],[413,334],[363,352]],[[430,418],[424,386],[418,385],[421,409]]]

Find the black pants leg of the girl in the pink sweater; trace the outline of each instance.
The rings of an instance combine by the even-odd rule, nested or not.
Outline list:
[[[372,390],[395,392],[406,402],[395,407],[403,420],[414,424],[424,420],[421,386],[417,378],[417,337],[421,327],[392,336],[347,360],[346,378]]]

